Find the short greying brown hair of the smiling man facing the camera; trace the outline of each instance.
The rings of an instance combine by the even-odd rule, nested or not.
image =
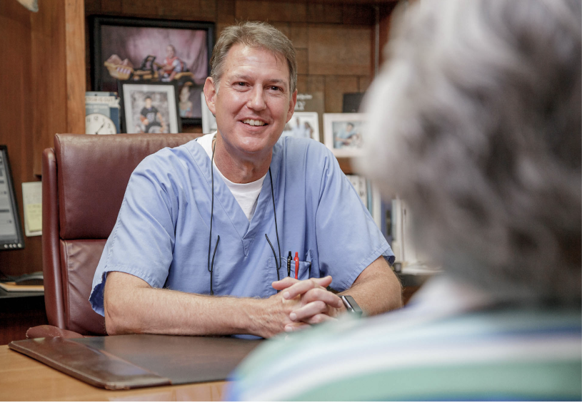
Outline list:
[[[289,67],[290,94],[297,86],[297,61],[293,43],[279,29],[266,22],[242,22],[226,27],[214,46],[210,59],[210,76],[216,88],[224,72],[224,62],[232,46],[241,43],[251,48],[264,48],[276,55],[282,56]]]

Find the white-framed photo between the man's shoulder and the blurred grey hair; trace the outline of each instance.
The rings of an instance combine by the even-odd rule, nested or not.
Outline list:
[[[323,143],[336,157],[362,155],[366,139],[365,113],[323,113]]]

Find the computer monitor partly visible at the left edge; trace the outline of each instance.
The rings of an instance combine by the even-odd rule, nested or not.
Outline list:
[[[6,145],[0,145],[0,251],[24,249],[24,236]]]

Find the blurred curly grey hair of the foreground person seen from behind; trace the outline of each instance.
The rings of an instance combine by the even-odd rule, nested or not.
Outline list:
[[[363,171],[418,245],[519,299],[582,295],[582,2],[411,7],[368,97]]]

